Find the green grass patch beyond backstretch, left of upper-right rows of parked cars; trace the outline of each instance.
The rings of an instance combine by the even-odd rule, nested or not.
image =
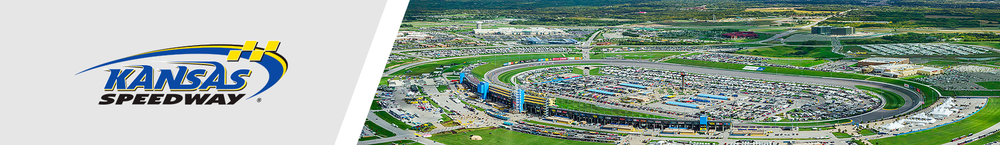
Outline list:
[[[757,48],[740,50],[736,53],[759,55],[766,57],[812,57],[812,58],[839,58],[843,55],[833,53],[831,47],[800,47],[800,46],[774,46],[769,48]]]

